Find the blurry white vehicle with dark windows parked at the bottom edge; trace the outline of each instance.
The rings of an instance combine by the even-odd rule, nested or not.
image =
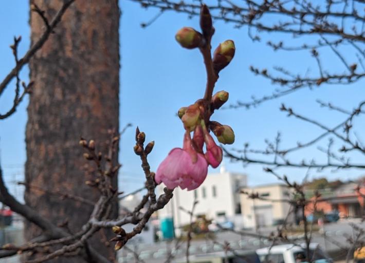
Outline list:
[[[318,243],[309,245],[309,257],[306,259],[306,245],[285,244],[256,250],[262,263],[332,263],[332,259],[319,247]]]

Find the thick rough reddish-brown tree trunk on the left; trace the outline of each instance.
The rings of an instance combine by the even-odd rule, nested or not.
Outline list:
[[[63,0],[35,0],[34,3],[45,10],[50,20]],[[44,30],[42,19],[34,12],[30,15],[30,26],[34,43]],[[118,30],[117,0],[75,1],[32,59],[30,79],[35,84],[26,127],[28,184],[97,200],[98,191],[85,185],[86,180],[95,179],[95,174],[85,174],[84,150],[78,142],[80,136],[94,139],[103,151],[109,138],[107,130],[118,131]],[[116,178],[114,183],[117,187]],[[55,224],[67,221],[71,233],[80,230],[92,211],[90,205],[61,200],[29,187],[25,200]],[[117,204],[114,212],[117,215]],[[27,239],[40,234],[34,226],[26,229]],[[113,248],[105,246],[106,239],[107,236],[99,233],[88,243],[107,258],[114,257]],[[72,257],[51,262],[84,261]]]

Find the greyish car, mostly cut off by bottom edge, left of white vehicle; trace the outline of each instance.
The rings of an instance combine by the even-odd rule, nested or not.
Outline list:
[[[228,261],[225,261],[225,260]],[[185,263],[186,258],[181,258],[176,263]],[[255,251],[215,252],[189,257],[190,263],[260,263],[259,256]]]

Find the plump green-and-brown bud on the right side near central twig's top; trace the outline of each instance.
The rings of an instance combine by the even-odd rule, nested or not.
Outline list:
[[[216,72],[225,68],[234,56],[234,42],[232,40],[226,40],[221,43],[214,51],[213,67]]]

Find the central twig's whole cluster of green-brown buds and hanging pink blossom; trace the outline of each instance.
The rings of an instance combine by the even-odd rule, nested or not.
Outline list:
[[[182,47],[199,48],[203,54],[208,52],[210,54],[210,40],[214,28],[206,5],[203,5],[200,10],[200,28],[202,33],[190,27],[180,29],[176,33],[176,41]],[[234,51],[234,43],[231,40],[221,43],[216,48],[213,58],[208,58],[210,68],[214,69],[213,74],[217,75],[230,63]],[[212,95],[212,88],[210,95]],[[227,91],[218,91],[214,96],[205,96],[204,99],[178,110],[177,115],[185,128],[184,143],[182,148],[172,149],[166,159],[161,162],[155,175],[156,183],[163,182],[169,189],[180,186],[181,189],[194,190],[207,177],[208,165],[213,168],[220,165],[223,150],[215,143],[210,131],[216,136],[218,142],[223,144],[232,144],[234,133],[231,127],[210,121],[210,117],[214,110],[227,102],[228,97]],[[193,133],[192,138],[191,133]]]

